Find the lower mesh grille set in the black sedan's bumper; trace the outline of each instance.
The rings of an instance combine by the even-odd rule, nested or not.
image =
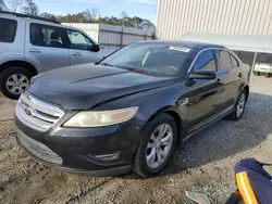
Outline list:
[[[62,165],[62,158],[45,144],[29,138],[20,130],[17,131],[17,139],[25,150],[27,150],[34,156],[46,162]]]

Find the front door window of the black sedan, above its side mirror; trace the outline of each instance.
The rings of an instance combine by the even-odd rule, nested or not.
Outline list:
[[[194,69],[209,69],[217,72],[215,59],[212,50],[206,50],[197,58]]]

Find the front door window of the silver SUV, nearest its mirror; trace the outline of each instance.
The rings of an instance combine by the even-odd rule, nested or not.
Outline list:
[[[67,36],[71,41],[71,49],[90,50],[90,47],[94,44],[89,38],[77,30],[69,29]]]

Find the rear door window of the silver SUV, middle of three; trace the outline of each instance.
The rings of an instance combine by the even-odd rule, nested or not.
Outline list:
[[[70,40],[65,29],[41,24],[30,24],[30,42],[33,46],[52,48],[70,47]]]

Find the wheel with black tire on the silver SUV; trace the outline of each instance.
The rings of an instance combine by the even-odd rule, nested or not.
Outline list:
[[[29,85],[30,78],[32,74],[26,68],[18,66],[8,67],[0,74],[0,90],[3,95],[16,100]]]

